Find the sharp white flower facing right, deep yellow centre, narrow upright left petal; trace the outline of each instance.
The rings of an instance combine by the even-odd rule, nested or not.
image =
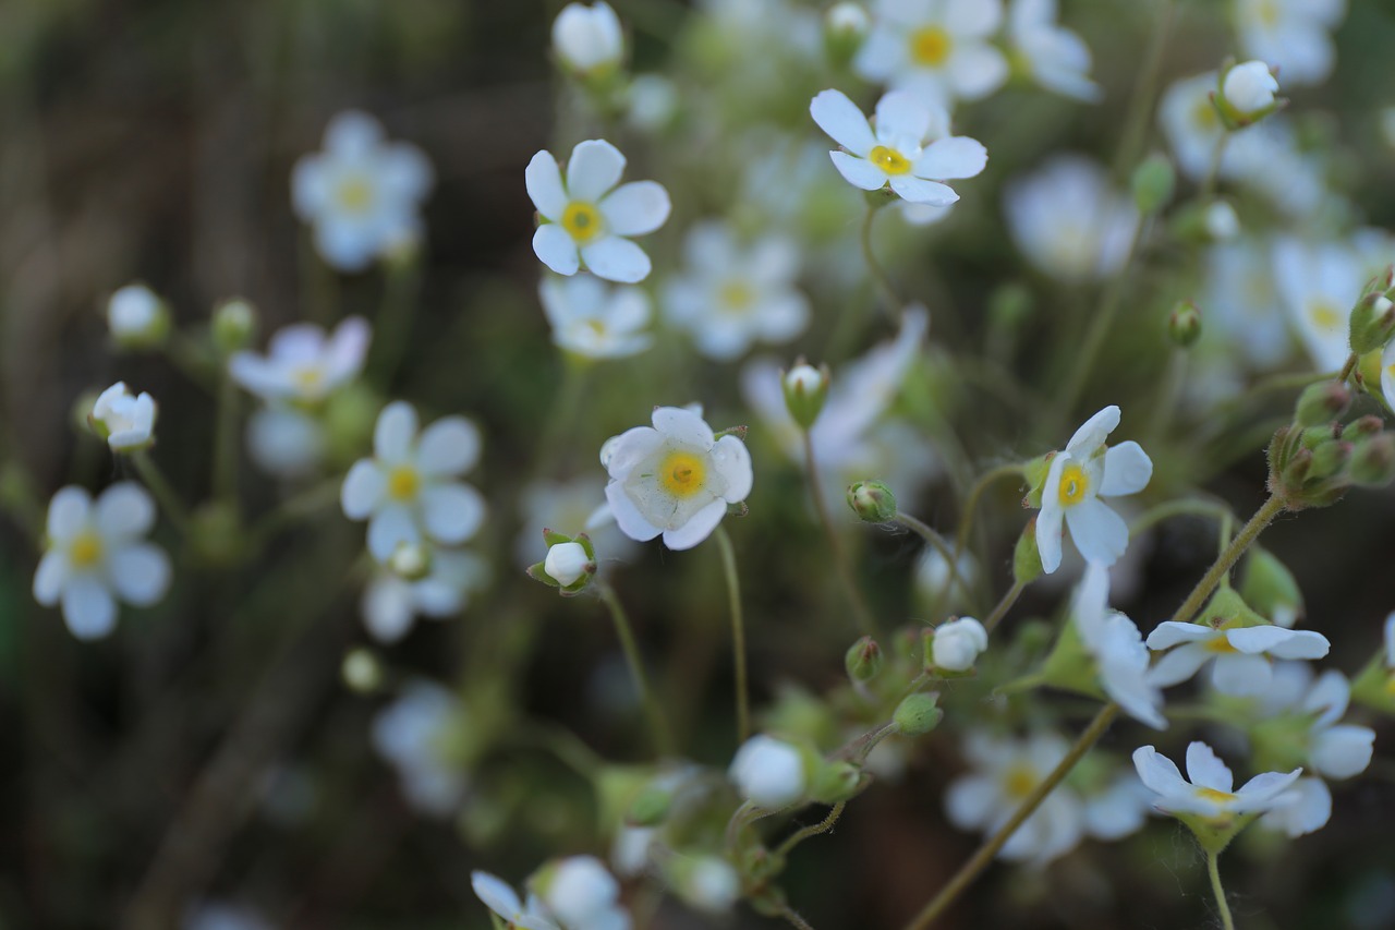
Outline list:
[[[1060,567],[1063,521],[1085,561],[1112,566],[1129,547],[1129,525],[1099,499],[1141,492],[1152,478],[1152,459],[1131,440],[1106,451],[1105,438],[1116,426],[1119,408],[1106,406],[1050,459],[1036,518],[1036,547],[1046,574]]]

